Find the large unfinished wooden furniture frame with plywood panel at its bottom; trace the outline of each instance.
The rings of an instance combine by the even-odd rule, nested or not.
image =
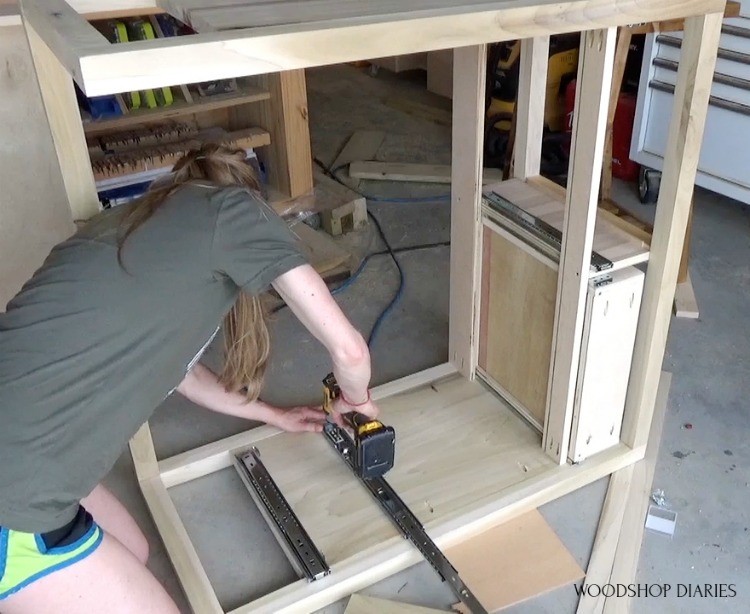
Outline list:
[[[398,432],[389,480],[441,547],[629,467],[644,457],[692,197],[724,0],[21,0],[71,205],[95,199],[70,81],[89,96],[339,62],[455,49],[449,362],[373,391]],[[81,13],[163,8],[199,30],[110,45]],[[619,443],[569,462],[573,399],[617,27],[685,19],[663,177]],[[225,29],[231,28],[231,29]],[[582,32],[570,175],[557,268],[541,436],[478,373],[487,275],[482,146],[486,44],[524,39],[515,181],[540,193],[549,36]],[[552,190],[554,191],[554,190]],[[508,360],[513,360],[509,356]],[[427,426],[425,426],[427,425]],[[416,563],[404,541],[321,437],[261,427],[157,460],[148,425],[131,443],[141,490],[193,609],[223,612],[169,488],[231,465],[257,446],[332,573],[293,582],[232,612],[308,612]],[[345,503],[342,503],[345,502]],[[426,504],[427,503],[427,504]],[[364,539],[359,527],[367,526]]]

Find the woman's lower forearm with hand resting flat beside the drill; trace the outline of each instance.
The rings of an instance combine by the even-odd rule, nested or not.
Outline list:
[[[185,376],[177,386],[177,392],[207,409],[238,418],[266,422],[285,431],[317,432],[322,430],[325,421],[325,415],[312,407],[282,409],[263,401],[248,403],[243,394],[227,392],[218,376],[201,363],[197,363]]]

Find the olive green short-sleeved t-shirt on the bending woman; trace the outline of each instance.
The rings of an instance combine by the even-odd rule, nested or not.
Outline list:
[[[0,314],[0,526],[69,522],[240,288],[257,294],[305,263],[258,197],[188,185],[129,237],[123,269],[128,206],[56,246]]]

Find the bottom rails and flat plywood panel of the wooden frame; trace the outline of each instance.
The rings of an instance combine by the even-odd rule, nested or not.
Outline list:
[[[531,427],[449,364],[379,386],[373,398],[397,429],[396,467],[388,479],[444,550],[643,457],[643,449],[621,444],[578,465],[558,466],[542,453]],[[197,614],[224,610],[167,488],[229,467],[235,454],[253,445],[326,555],[331,574],[298,580],[230,614],[312,612],[422,560],[320,435],[259,427],[157,466],[144,425],[131,441],[141,491]]]

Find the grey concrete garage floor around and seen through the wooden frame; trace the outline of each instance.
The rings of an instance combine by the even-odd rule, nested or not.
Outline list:
[[[330,164],[352,132],[388,133],[378,157],[388,161],[450,161],[450,128],[397,111],[389,102],[407,98],[445,104],[424,91],[419,77],[403,78],[331,67],[310,71],[309,105],[314,154]],[[445,186],[364,182],[375,195],[441,195]],[[619,200],[644,215],[630,186]],[[634,204],[635,203],[635,204]],[[372,203],[394,247],[449,239],[447,201]],[[360,255],[382,249],[372,226],[347,240]],[[375,383],[445,361],[447,355],[449,248],[405,253],[403,300],[372,348]],[[698,190],[691,274],[701,308],[699,321],[672,324],[665,369],[674,373],[669,412],[654,482],[678,513],[673,539],[648,533],[639,582],[733,583],[733,599],[640,599],[636,612],[750,611],[747,441],[750,398],[750,209]],[[397,278],[386,258],[368,265],[340,303],[365,333],[395,291]],[[265,398],[279,404],[318,402],[320,379],[329,370],[322,348],[287,312],[273,326],[274,352]],[[218,360],[212,348],[208,361]],[[684,428],[686,423],[692,429]],[[152,428],[160,457],[248,428],[238,419],[210,414],[178,395],[160,407]],[[174,571],[137,491],[132,463],[123,454],[107,484],[132,511],[152,543],[150,566],[188,612]],[[541,511],[585,569],[601,511],[606,480],[544,506]],[[223,606],[231,609],[294,579],[233,470],[173,489],[176,505],[194,539]],[[512,556],[512,554],[510,554]],[[498,582],[502,582],[498,578]],[[676,589],[675,589],[676,590]],[[447,608],[453,599],[426,564],[364,591],[420,605]],[[509,612],[575,611],[572,586],[537,597]],[[345,601],[326,613],[340,613]]]

